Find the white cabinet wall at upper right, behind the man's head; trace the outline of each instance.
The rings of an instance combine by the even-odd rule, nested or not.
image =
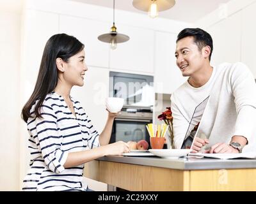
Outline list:
[[[244,62],[256,78],[256,62],[253,52],[256,45],[255,0],[230,0],[218,10],[198,20],[213,39],[212,64]]]

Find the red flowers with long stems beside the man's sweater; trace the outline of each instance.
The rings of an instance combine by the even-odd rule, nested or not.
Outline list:
[[[174,149],[173,143],[173,117],[172,117],[172,110],[170,107],[166,107],[166,110],[162,112],[162,114],[158,115],[157,117],[159,120],[164,120],[164,123],[168,125],[168,130],[170,133],[170,143],[172,145],[172,149]]]

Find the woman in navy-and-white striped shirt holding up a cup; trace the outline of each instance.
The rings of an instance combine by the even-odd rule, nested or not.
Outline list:
[[[125,142],[109,144],[114,113],[99,135],[79,101],[70,97],[83,86],[84,45],[73,36],[56,34],[46,43],[33,94],[22,108],[28,124],[30,169],[26,191],[86,191],[84,163],[129,152]]]

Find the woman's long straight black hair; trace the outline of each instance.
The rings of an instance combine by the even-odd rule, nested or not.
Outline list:
[[[21,117],[25,122],[31,117],[30,110],[36,100],[39,101],[35,106],[35,117],[41,117],[40,106],[42,106],[46,95],[52,92],[57,85],[58,70],[56,59],[60,57],[63,61],[68,62],[70,57],[76,55],[83,50],[83,48],[83,43],[74,36],[68,36],[67,34],[55,34],[47,41],[35,89],[28,102],[22,108]]]

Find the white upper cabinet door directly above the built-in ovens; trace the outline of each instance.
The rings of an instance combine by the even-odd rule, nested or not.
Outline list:
[[[130,37],[110,50],[109,67],[125,71],[154,73],[154,31],[116,24],[117,32]]]

